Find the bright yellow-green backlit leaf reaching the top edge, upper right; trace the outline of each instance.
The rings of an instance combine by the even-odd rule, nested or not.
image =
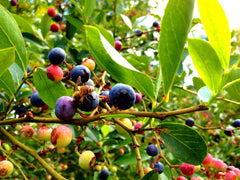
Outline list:
[[[218,0],[198,0],[201,22],[208,39],[215,49],[222,68],[227,69],[230,57],[230,39],[228,19]]]

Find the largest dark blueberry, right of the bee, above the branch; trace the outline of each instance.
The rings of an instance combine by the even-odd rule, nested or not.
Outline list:
[[[110,90],[109,100],[112,105],[124,110],[134,105],[136,95],[131,86],[118,83]]]

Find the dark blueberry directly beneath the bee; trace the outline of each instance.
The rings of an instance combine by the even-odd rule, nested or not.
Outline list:
[[[94,91],[91,94],[83,96],[83,100],[79,102],[78,108],[82,111],[92,111],[99,105],[98,94]]]

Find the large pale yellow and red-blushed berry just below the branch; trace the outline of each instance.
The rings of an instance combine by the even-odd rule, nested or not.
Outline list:
[[[72,131],[66,125],[59,125],[52,130],[51,142],[55,147],[66,147],[72,140]]]

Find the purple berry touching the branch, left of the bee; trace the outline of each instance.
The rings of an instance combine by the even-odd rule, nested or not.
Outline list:
[[[58,98],[55,105],[55,115],[63,120],[68,121],[73,118],[76,113],[76,108],[73,104],[73,98],[69,96],[62,96]]]

